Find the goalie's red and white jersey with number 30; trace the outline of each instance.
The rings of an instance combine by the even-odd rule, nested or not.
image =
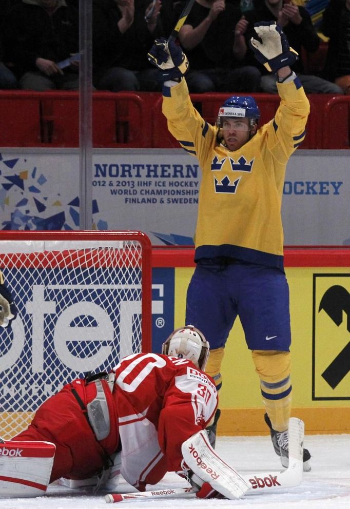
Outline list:
[[[213,381],[186,359],[139,354],[116,367],[115,385],[123,477],[154,484],[180,470],[182,443],[206,427],[217,407]]]

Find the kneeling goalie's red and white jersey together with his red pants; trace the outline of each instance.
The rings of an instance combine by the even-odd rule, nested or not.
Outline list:
[[[106,457],[122,446],[121,473],[139,490],[181,470],[181,445],[204,429],[218,405],[215,384],[186,359],[135,354],[114,369],[108,383],[77,380],[38,408],[29,428],[15,440],[47,440],[56,445],[50,482],[84,479],[102,470]],[[99,385],[100,384],[100,385]],[[104,428],[91,426],[89,409],[108,409]],[[90,411],[90,416],[91,416]],[[90,421],[90,422],[89,422]]]

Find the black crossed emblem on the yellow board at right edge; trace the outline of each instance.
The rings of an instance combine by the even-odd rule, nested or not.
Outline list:
[[[350,332],[350,293],[340,285],[331,286],[324,293],[318,311],[324,310],[339,327],[343,321],[343,311],[347,316],[346,328]],[[324,380],[335,389],[350,371],[350,342],[323,371]]]

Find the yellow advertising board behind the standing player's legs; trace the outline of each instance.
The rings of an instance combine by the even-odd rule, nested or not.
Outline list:
[[[177,268],[175,326],[185,320],[193,268]],[[293,415],[312,433],[350,432],[350,268],[287,267]],[[266,432],[260,382],[239,319],[229,334],[220,391],[221,434]]]

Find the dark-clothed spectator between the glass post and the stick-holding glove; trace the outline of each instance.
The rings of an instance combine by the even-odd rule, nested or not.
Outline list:
[[[148,62],[154,37],[163,35],[156,0],[93,1],[93,81],[98,90],[160,91],[157,69]]]

